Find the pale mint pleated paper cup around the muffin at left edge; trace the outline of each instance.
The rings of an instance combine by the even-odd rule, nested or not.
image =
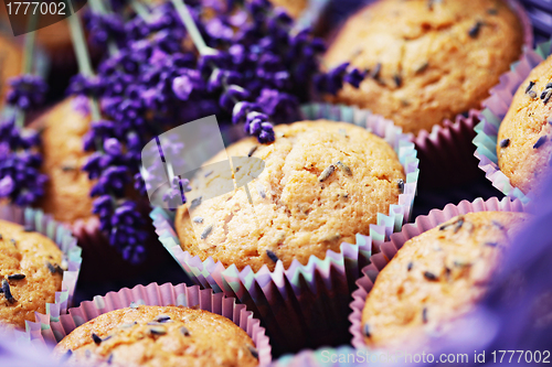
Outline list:
[[[57,321],[62,314],[67,313],[72,305],[76,281],[81,271],[81,248],[72,233],[63,225],[53,220],[42,211],[21,208],[13,205],[0,205],[0,219],[9,220],[29,227],[52,239],[63,251],[67,261],[67,270],[63,272],[62,290],[55,292],[55,303],[46,303],[46,313],[34,313],[35,322],[25,321],[25,332],[15,331],[18,337],[33,339],[52,321]]]

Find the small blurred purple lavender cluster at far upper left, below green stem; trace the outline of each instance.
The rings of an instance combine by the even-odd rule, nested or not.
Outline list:
[[[44,102],[47,84],[42,77],[24,74],[10,78],[9,84],[12,89],[8,93],[8,104],[26,111]]]

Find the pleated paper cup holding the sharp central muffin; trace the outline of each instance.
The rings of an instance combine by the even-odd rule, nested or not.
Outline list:
[[[173,227],[174,214],[161,208],[150,214],[159,240],[187,276],[247,304],[267,327],[278,353],[347,342],[351,287],[371,256],[372,246],[382,244],[408,220],[418,176],[414,144],[390,120],[358,108],[325,104],[306,105],[302,115],[305,119],[346,121],[371,129],[394,148],[403,164],[406,183],[399,204],[390,206],[389,215],[378,214],[378,224],[370,225],[370,236],[357,235],[358,245],[343,242],[340,252],[328,250],[323,260],[311,256],[307,265],[294,260],[287,270],[278,261],[274,271],[266,267],[257,272],[251,267],[240,271],[211,257],[202,261],[183,251]]]

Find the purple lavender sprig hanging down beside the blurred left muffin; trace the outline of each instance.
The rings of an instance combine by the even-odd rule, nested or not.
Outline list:
[[[100,84],[94,76],[77,17],[70,18],[70,26],[81,68],[79,76],[73,78],[72,91],[97,96]],[[91,191],[91,196],[96,197],[93,202],[93,213],[98,215],[100,230],[108,234],[109,244],[124,259],[139,263],[146,256],[142,245],[147,238],[147,231],[142,229],[146,222],[138,211],[138,204],[125,198],[126,187],[132,180],[131,168],[137,158],[132,152],[126,151],[121,140],[128,139],[130,147],[132,143],[139,145],[139,142],[134,141],[136,134],[125,133],[125,130],[113,121],[103,120],[94,97],[92,106],[94,122],[85,137],[84,149],[95,152],[88,158],[83,170],[88,173],[91,180],[97,180]]]

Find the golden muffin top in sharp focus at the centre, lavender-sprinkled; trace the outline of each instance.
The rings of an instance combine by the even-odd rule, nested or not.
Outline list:
[[[278,259],[285,268],[294,259],[306,265],[312,255],[323,259],[328,249],[339,252],[343,241],[354,244],[355,234],[369,234],[378,213],[397,204],[403,168],[394,150],[365,129],[319,120],[280,125],[275,132],[273,144],[247,138],[226,150],[229,156],[251,154],[266,164],[248,184],[253,206],[244,188],[203,202],[193,190],[187,194],[192,220],[185,206],[176,218],[183,250],[254,271],[264,265],[273,270]],[[223,180],[232,176],[212,173],[203,187]]]

